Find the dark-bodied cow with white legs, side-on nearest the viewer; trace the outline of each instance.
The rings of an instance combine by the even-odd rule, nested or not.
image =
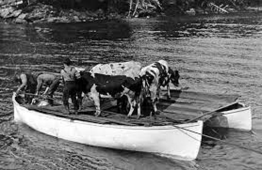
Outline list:
[[[101,114],[100,95],[110,95],[119,99],[126,96],[130,103],[130,111],[127,117],[132,115],[134,107],[137,106],[138,118],[141,115],[142,98],[142,77],[132,79],[124,75],[105,75],[92,74],[91,72],[81,72],[81,78],[78,80],[79,89],[94,100],[96,106],[96,116]]]

